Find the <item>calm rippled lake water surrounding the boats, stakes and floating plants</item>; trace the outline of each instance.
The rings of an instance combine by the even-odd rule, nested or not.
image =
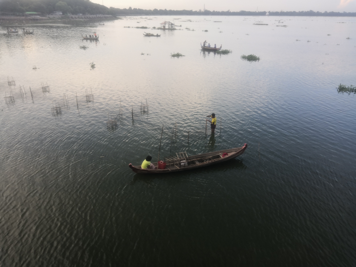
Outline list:
[[[184,30],[124,28],[173,19]],[[355,266],[356,98],[336,87],[356,84],[356,18],[33,28],[0,36],[1,266]],[[100,42],[81,40],[93,31]],[[204,40],[233,52],[201,52]],[[14,104],[2,98],[8,75]],[[150,113],[140,115],[146,98]],[[119,127],[107,130],[120,100]],[[205,138],[212,112],[221,134]],[[248,148],[204,169],[133,173],[129,163],[157,160],[162,125],[161,156]]]

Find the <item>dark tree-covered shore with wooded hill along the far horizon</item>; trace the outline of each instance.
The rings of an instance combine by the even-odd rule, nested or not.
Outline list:
[[[195,16],[265,16],[267,11],[193,11],[167,9],[119,9],[95,4],[90,0],[4,0],[0,2],[1,14],[23,14],[25,12],[39,12],[43,15],[61,11],[63,14],[104,14],[104,15],[195,15]],[[269,16],[330,16],[355,17],[356,12],[319,12],[319,11],[268,11]]]

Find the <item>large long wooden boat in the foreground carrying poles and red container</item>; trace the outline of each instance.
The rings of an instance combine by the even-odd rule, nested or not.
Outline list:
[[[158,162],[152,163],[156,167],[155,170],[141,169],[141,165],[133,166],[131,163],[129,164],[129,167],[132,169],[132,171],[142,174],[187,171],[236,158],[237,156],[242,155],[245,152],[246,148],[247,144],[242,147],[209,152],[194,156],[187,156],[187,153],[180,152],[177,153],[177,157],[164,158],[164,162],[166,163],[166,167],[164,169],[157,168]]]

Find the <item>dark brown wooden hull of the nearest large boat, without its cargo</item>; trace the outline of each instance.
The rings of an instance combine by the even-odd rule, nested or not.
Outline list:
[[[200,164],[194,164],[191,166],[187,166],[187,167],[180,167],[180,168],[174,168],[174,169],[169,169],[168,167],[166,167],[165,169],[141,169],[141,166],[133,166],[131,163],[129,164],[129,167],[132,169],[132,171],[136,172],[136,173],[140,173],[140,174],[153,174],[153,173],[167,173],[167,172],[180,172],[180,171],[188,171],[191,169],[197,169],[197,168],[201,168],[201,167],[206,167],[206,166],[210,166],[213,164],[217,164],[217,163],[221,163],[221,162],[225,162],[228,161],[229,159],[233,159],[236,158],[240,155],[242,155],[245,150],[247,148],[247,144],[245,144],[242,147],[237,147],[237,148],[232,148],[232,149],[226,149],[226,150],[220,150],[220,151],[216,151],[216,152],[210,152],[210,153],[205,153],[205,154],[200,154],[200,155],[194,155],[194,156],[189,156],[188,160],[192,161],[194,159],[200,159],[201,157],[213,157],[213,156],[218,156],[221,155],[223,153],[228,153],[229,155],[225,156],[225,157],[220,157],[218,159],[213,159],[211,161],[207,161],[204,163],[200,163]],[[152,163],[153,165],[155,165],[157,167],[157,163]]]

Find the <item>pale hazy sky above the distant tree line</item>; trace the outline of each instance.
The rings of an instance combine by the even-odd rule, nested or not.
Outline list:
[[[173,9],[173,10],[203,10],[210,11],[335,11],[356,12],[356,0],[91,0],[94,3],[117,8],[142,9]]]

